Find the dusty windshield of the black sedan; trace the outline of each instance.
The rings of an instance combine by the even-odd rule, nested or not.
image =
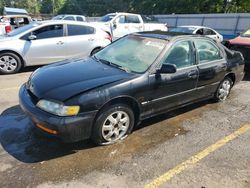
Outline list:
[[[127,72],[144,73],[159,56],[166,43],[161,39],[130,35],[104,48],[95,58]]]

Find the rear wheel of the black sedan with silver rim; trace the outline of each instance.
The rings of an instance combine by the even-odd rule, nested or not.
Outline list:
[[[215,101],[217,102],[225,101],[228,98],[232,87],[233,87],[232,79],[229,77],[225,77],[224,80],[220,83],[214,95]]]

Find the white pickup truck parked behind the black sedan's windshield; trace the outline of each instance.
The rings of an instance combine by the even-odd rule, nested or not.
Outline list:
[[[166,24],[159,23],[153,16],[143,16],[123,12],[107,14],[101,17],[98,22],[110,29],[110,33],[114,40],[129,33],[168,30]]]

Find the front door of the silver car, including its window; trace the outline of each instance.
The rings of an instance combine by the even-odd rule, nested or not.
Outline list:
[[[36,40],[28,40],[29,35]],[[66,46],[63,24],[46,25],[26,36],[24,58],[29,64],[47,64],[65,59]]]

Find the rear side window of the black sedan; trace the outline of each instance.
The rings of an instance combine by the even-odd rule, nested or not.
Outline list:
[[[198,52],[200,64],[222,59],[220,50],[207,40],[196,40],[195,46]]]

